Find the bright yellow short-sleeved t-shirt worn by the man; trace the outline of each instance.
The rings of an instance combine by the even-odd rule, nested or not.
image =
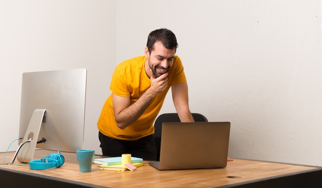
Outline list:
[[[112,93],[122,97],[130,97],[134,103],[147,89],[151,80],[145,71],[145,56],[135,57],[121,62],[113,73],[110,89]],[[130,126],[121,130],[114,117],[112,94],[106,99],[97,122],[98,130],[111,138],[121,140],[137,140],[154,133],[153,122],[162,108],[164,99],[171,85],[186,81],[181,59],[174,56],[173,65],[168,71],[168,88],[155,96],[146,111]]]

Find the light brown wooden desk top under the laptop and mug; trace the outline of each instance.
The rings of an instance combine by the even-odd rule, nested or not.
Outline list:
[[[56,151],[36,150],[34,159],[40,159]],[[197,170],[173,170],[158,171],[144,161],[136,171],[102,171],[98,164],[93,164],[92,172],[81,173],[75,153],[61,152],[65,157],[65,163],[58,169],[30,170],[29,165],[17,166],[14,164],[0,165],[0,170],[17,171],[43,177],[64,179],[67,181],[83,182],[106,187],[232,187],[227,185],[251,182],[259,179],[280,177],[285,175],[301,174],[312,171],[321,171],[318,167],[302,166],[263,161],[234,159],[227,162],[223,169],[197,169]],[[7,154],[6,161],[10,161],[13,152]],[[5,154],[0,153],[3,160]],[[95,156],[100,158],[101,156]],[[19,163],[19,161],[15,161]]]

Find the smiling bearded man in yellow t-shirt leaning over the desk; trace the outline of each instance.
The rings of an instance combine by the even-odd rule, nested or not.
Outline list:
[[[148,36],[145,56],[123,61],[115,68],[112,94],[97,123],[103,155],[130,153],[156,160],[153,122],[170,87],[180,120],[193,121],[183,65],[174,55],[176,48],[174,33],[158,29]]]

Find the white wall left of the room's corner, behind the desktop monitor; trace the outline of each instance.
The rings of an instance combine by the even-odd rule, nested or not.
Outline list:
[[[96,122],[116,64],[115,7],[104,0],[0,0],[0,151],[18,137],[23,72],[86,68],[84,148],[101,152]]]

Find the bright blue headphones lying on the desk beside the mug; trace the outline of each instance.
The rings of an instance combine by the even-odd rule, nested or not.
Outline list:
[[[50,168],[58,168],[63,165],[65,162],[65,158],[60,152],[58,154],[50,154],[47,155],[40,160],[31,160],[29,162],[31,170],[45,170]]]

